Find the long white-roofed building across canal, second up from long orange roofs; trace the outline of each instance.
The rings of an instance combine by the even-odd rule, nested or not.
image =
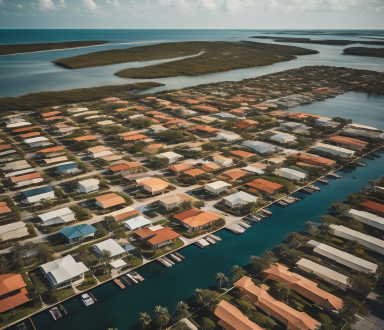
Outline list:
[[[377,269],[377,264],[373,262],[366,261],[332,246],[317,242],[313,239],[309,240],[307,244],[314,246],[313,252],[341,263],[349,268],[366,273],[375,272]]]

